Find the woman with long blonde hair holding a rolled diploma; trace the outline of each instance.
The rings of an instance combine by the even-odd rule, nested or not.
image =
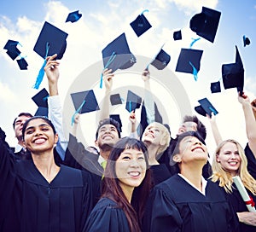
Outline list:
[[[255,167],[256,168],[256,167]],[[241,231],[256,231],[256,212],[248,212],[232,177],[240,177],[247,193],[256,202],[256,180],[247,171],[247,157],[236,140],[220,142],[212,159],[212,182],[223,187],[234,207]]]

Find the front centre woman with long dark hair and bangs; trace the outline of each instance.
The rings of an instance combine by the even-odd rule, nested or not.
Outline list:
[[[109,155],[102,198],[90,213],[84,232],[141,231],[150,183],[147,148],[137,139],[121,138]]]

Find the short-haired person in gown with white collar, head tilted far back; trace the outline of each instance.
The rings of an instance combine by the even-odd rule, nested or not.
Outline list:
[[[202,177],[205,142],[195,131],[178,136],[172,160],[179,173],[149,195],[143,231],[237,231],[238,219],[218,184]]]

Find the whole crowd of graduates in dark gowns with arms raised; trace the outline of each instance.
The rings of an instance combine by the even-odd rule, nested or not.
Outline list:
[[[247,208],[255,209],[256,200],[256,101],[238,93],[246,148],[223,140],[217,116],[207,114],[217,145],[208,154],[206,126],[195,115],[186,115],[171,136],[144,70],[142,133],[131,111],[131,134],[121,136],[119,122],[109,117],[113,72],[105,69],[105,107],[96,142],[85,147],[77,138],[79,112],[64,136],[55,58],[44,67],[49,117],[20,113],[16,148],[0,131],[1,231],[256,231],[256,212]],[[233,177],[241,178],[250,200],[242,199]]]

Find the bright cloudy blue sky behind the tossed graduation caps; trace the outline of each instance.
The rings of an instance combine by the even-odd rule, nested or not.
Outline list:
[[[214,43],[201,38],[193,46],[193,49],[203,49],[204,53],[201,59],[201,70],[198,73],[198,81],[195,82],[190,74],[177,73],[175,67],[177,57],[181,48],[189,48],[191,38],[198,36],[189,29],[189,20],[197,13],[201,12],[202,6],[216,9],[221,12],[221,18],[218,25],[218,32]],[[146,17],[151,23],[152,28],[144,33],[140,38],[132,31],[129,25],[138,14],[144,9],[148,9]],[[69,12],[79,10],[83,14],[82,18],[75,23],[65,23]],[[224,90],[218,94],[211,94],[210,83],[221,79],[221,66],[225,63],[233,63],[236,59],[237,45],[241,60],[245,68],[245,92],[253,100],[256,96],[256,73],[255,73],[255,52],[256,52],[256,3],[253,0],[208,0],[208,1],[183,1],[183,0],[156,0],[156,1],[18,1],[9,0],[0,3],[0,107],[2,110],[1,127],[6,131],[8,141],[11,145],[15,144],[12,122],[17,113],[31,112],[37,109],[32,102],[31,97],[38,90],[32,89],[32,85],[38,74],[38,70],[43,64],[42,58],[33,52],[33,46],[36,43],[39,32],[44,25],[44,21],[49,21],[53,25],[68,33],[67,50],[61,59],[61,78],[59,82],[60,96],[63,101],[67,100],[69,93],[76,90],[76,80],[87,67],[93,64],[102,64],[102,49],[117,38],[122,32],[125,32],[131,52],[134,55],[143,55],[148,59],[154,57],[155,53],[165,44],[164,49],[171,55],[171,61],[168,69],[172,72],[183,85],[186,94],[189,96],[191,112],[195,113],[194,107],[198,105],[198,100],[207,97],[218,109],[217,121],[220,125],[224,138],[233,137],[242,145],[247,141],[244,120],[241,106],[237,102],[236,90]],[[173,41],[172,32],[182,30],[183,40]],[[251,44],[243,47],[242,36],[246,35],[251,40]],[[17,40],[22,47],[19,47],[21,55],[26,56],[28,70],[20,71],[16,61],[12,61],[3,46],[8,39]],[[91,86],[86,85],[87,80],[92,83],[99,81],[101,66],[93,73],[87,73],[89,77],[84,77],[84,90]],[[151,67],[152,72],[156,73],[153,77],[155,83],[152,87],[155,97],[159,102],[164,102],[168,122],[172,128],[172,135],[175,135],[177,126],[180,123],[181,115],[176,111],[181,111],[182,106],[169,109],[169,103],[174,102],[172,93],[167,96],[161,86],[168,78],[161,77],[165,81],[157,84],[157,78],[166,73],[156,72]],[[130,74],[126,70],[126,75]],[[86,72],[85,72],[86,73]],[[86,74],[86,75],[87,75]],[[116,75],[116,83],[119,75]],[[168,75],[168,74],[167,74]],[[86,79],[87,78],[87,79]],[[133,77],[136,78],[136,77]],[[119,85],[113,88],[127,89],[127,85],[142,86],[141,79],[123,78]],[[115,80],[114,80],[115,81]],[[130,82],[129,82],[130,81]],[[114,82],[115,83],[115,82]],[[172,79],[170,78],[172,85]],[[40,86],[47,88],[47,82],[44,78]],[[80,88],[80,89],[79,89]],[[79,86],[77,90],[82,90]],[[104,90],[96,89],[99,99]],[[100,101],[100,100],[99,100]],[[168,103],[169,102],[169,103]],[[177,102],[177,101],[176,101]],[[170,103],[171,104],[171,103]],[[73,109],[71,108],[71,111]],[[119,109],[115,109],[118,111]],[[170,113],[168,110],[171,110]],[[124,113],[125,114],[125,113]],[[129,114],[128,114],[129,116]],[[128,117],[125,114],[125,117]],[[209,126],[206,118],[199,115],[200,119]],[[87,142],[93,142],[95,122],[90,121],[96,118],[95,114],[88,113],[84,116],[82,125],[89,128],[91,139]],[[88,122],[93,127],[88,126]],[[234,126],[235,125],[235,126]],[[70,129],[67,122],[67,131]],[[211,130],[208,129],[207,142],[213,148]]]

